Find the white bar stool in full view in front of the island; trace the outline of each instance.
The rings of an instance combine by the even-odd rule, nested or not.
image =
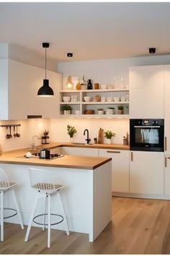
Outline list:
[[[65,229],[66,229],[66,234],[69,235],[68,231],[68,223],[66,219],[66,213],[63,208],[63,202],[61,200],[61,195],[60,195],[60,189],[63,188],[63,185],[58,185],[50,181],[48,177],[48,173],[45,172],[45,170],[41,169],[35,169],[35,168],[29,168],[29,173],[30,173],[30,182],[31,182],[31,187],[33,189],[36,189],[38,192],[37,200],[35,200],[35,205],[32,210],[31,216],[30,216],[30,221],[28,223],[27,227],[27,233],[24,239],[24,242],[28,241],[28,237],[30,234],[30,229],[32,226],[32,221],[35,223],[42,225],[42,230],[45,230],[45,226],[48,226],[48,248],[50,248],[50,228],[53,225],[56,225],[58,223],[61,223],[64,221],[65,223]],[[61,202],[61,208],[63,210],[63,216],[51,213],[51,195],[57,193],[58,194],[58,199]],[[45,210],[44,213],[35,216],[35,210],[37,208],[37,204],[40,198],[45,198]],[[47,200],[48,199],[48,200]],[[47,206],[47,201],[48,201],[48,213],[46,213],[46,206]],[[36,218],[39,218],[40,216],[43,217],[42,223],[35,221]],[[45,223],[45,217],[48,216],[48,223]],[[51,223],[51,216],[59,216],[60,221],[56,223]]]

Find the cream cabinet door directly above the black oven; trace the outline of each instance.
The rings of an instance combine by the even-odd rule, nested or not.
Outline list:
[[[164,118],[164,66],[130,67],[130,118]]]

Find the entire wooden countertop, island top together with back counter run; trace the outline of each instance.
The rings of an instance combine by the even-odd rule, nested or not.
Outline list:
[[[73,148],[102,148],[112,150],[129,150],[128,145],[122,144],[92,144],[92,145],[81,145],[69,142],[50,142],[46,145],[39,145],[35,147],[35,150],[31,148],[24,148],[21,150],[6,151],[0,155],[0,163],[9,164],[21,164],[21,165],[33,165],[33,166],[50,166],[50,167],[61,167],[61,168],[83,168],[88,170],[94,170],[104,163],[112,160],[112,158],[101,158],[101,157],[89,157],[79,155],[64,155],[62,158],[56,158],[53,160],[45,160],[40,158],[24,158],[27,151],[31,153],[38,153],[42,148],[58,148],[58,147],[73,147]]]

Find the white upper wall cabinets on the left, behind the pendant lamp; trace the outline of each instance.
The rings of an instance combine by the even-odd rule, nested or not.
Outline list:
[[[47,71],[55,96],[41,98],[37,90],[45,79],[45,70],[12,59],[0,60],[0,119],[27,119],[29,115],[56,118],[59,115],[59,90],[62,76]]]

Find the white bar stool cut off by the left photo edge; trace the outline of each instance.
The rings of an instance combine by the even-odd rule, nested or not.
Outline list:
[[[17,183],[9,182],[8,177],[7,177],[6,173],[5,173],[5,171],[2,168],[0,168],[1,242],[4,241],[4,219],[5,218],[11,218],[13,216],[16,216],[17,213],[18,213],[18,217],[19,217],[19,222],[20,222],[21,228],[24,229],[23,222],[22,222],[21,212],[19,210],[19,206],[18,206],[18,203],[17,203],[17,197],[16,197],[15,192],[14,192],[14,187],[16,187],[16,186],[17,186]],[[4,193],[8,192],[9,190],[11,190],[11,192],[12,192],[12,196],[13,196],[13,200],[14,200],[16,209],[4,208]],[[14,212],[14,214],[12,214],[11,216],[4,217],[4,210],[12,210]]]

